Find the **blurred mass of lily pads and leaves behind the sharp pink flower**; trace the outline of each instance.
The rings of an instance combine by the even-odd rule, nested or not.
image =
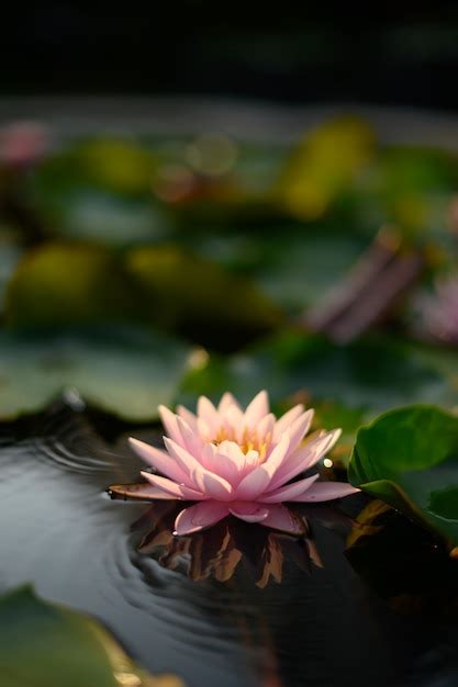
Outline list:
[[[76,388],[146,421],[266,386],[343,425],[347,458],[383,409],[457,404],[453,151],[350,114],[292,145],[37,123],[1,140],[3,417]]]

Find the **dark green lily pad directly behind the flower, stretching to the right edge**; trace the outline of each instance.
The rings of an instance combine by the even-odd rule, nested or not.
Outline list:
[[[289,331],[230,359],[211,357],[187,375],[180,399],[216,401],[228,390],[248,403],[264,387],[277,409],[299,401],[317,406],[324,421],[344,427],[347,444],[362,421],[390,407],[418,398],[453,405],[458,397],[437,365],[406,345],[372,338],[342,347]]]

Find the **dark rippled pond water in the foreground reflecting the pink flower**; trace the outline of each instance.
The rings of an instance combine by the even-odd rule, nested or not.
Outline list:
[[[316,507],[302,540],[235,521],[174,540],[172,506],[105,494],[138,476],[126,436],[68,405],[4,425],[0,462],[0,588],[32,582],[94,615],[154,673],[189,687],[458,684],[456,564],[401,516],[353,553],[348,518]]]

